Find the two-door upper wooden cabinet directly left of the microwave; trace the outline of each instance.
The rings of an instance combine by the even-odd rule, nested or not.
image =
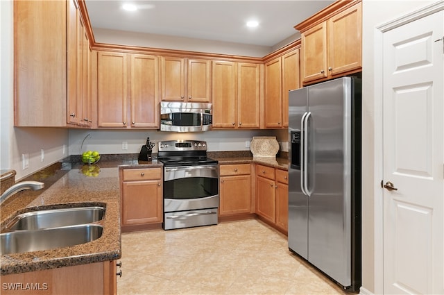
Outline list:
[[[159,128],[159,58],[97,52],[97,126]]]

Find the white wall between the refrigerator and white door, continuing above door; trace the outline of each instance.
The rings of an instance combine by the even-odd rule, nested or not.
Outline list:
[[[382,180],[381,149],[375,139],[382,131],[382,106],[379,93],[375,93],[375,81],[380,76],[382,60],[375,55],[382,44],[377,44],[377,26],[406,15],[436,1],[377,1],[363,0],[363,187],[362,187],[362,287],[364,294],[383,294],[382,289],[382,201],[376,197]]]

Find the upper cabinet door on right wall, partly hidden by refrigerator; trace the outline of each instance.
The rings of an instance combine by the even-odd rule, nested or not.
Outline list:
[[[289,126],[289,90],[300,88],[299,50],[282,56],[282,127]]]

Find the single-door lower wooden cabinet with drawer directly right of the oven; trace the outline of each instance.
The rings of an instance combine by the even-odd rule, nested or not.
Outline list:
[[[252,212],[250,164],[221,165],[219,216]]]

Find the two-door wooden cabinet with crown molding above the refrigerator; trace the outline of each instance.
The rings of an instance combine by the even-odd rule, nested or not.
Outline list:
[[[361,71],[361,7],[361,1],[336,1],[295,26],[301,33],[302,83]]]

